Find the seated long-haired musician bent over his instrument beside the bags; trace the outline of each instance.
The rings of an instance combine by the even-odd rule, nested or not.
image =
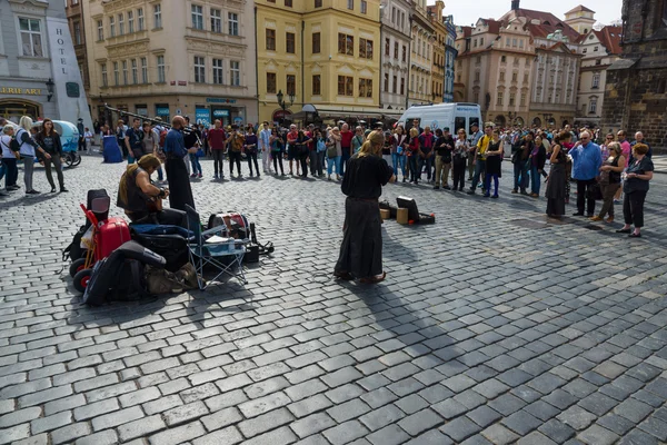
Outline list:
[[[123,208],[130,221],[136,224],[165,224],[188,227],[186,212],[177,209],[162,209],[162,199],[169,189],[152,185],[150,175],[160,167],[155,155],[145,155],[139,162],[128,166],[118,186],[117,206]]]

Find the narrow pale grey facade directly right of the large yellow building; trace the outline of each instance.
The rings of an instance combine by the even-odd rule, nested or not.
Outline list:
[[[410,3],[389,0],[381,9],[382,57],[381,108],[399,112],[406,109],[410,73]]]

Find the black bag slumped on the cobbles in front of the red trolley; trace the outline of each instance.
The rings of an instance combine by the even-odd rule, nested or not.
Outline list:
[[[166,260],[138,243],[128,241],[98,261],[83,294],[83,303],[133,301],[149,296],[146,265],[163,268]]]

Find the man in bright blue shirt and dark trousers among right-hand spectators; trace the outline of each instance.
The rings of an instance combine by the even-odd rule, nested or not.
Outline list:
[[[603,154],[600,146],[593,142],[590,138],[590,132],[581,132],[579,141],[569,151],[573,157],[573,178],[577,180],[577,212],[574,216],[584,216],[585,204],[586,215],[593,217],[595,214],[595,199],[588,197],[588,194],[600,174]]]

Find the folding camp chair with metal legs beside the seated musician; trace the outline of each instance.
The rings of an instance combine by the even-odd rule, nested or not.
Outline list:
[[[200,289],[206,289],[208,284],[203,279],[203,267],[211,265],[216,267],[218,274],[210,281],[216,281],[223,274],[238,278],[242,284],[248,284],[243,271],[243,255],[246,255],[246,245],[238,246],[227,238],[220,238],[218,235],[225,231],[225,226],[213,227],[212,229],[201,230],[201,220],[199,214],[192,207],[186,205],[188,214],[188,230],[195,234],[188,241],[190,263],[197,270],[197,281]],[[238,241],[238,240],[237,240]],[[235,270],[238,266],[238,271]]]

